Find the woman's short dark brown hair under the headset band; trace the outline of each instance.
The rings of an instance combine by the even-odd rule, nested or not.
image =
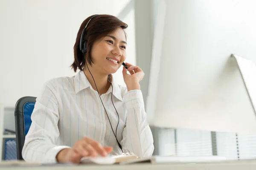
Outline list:
[[[76,43],[74,45],[74,62],[71,65],[71,68],[75,72],[77,68],[79,68],[82,71],[85,66],[84,54],[82,51],[80,51],[80,38],[81,38],[81,34],[84,27],[86,26],[90,18],[93,16],[94,15],[86,18],[83,21],[76,36]],[[87,25],[86,31],[84,33],[84,40],[87,41],[86,57],[90,65],[92,65],[93,63],[93,60],[90,55],[93,43],[96,40],[99,40],[99,38],[102,38],[107,34],[115,31],[116,28],[118,27],[125,29],[128,27],[128,25],[113,15],[103,14],[103,15],[96,16],[95,18],[93,18],[93,20],[90,20],[90,23]],[[126,34],[125,34],[125,38],[126,38]]]

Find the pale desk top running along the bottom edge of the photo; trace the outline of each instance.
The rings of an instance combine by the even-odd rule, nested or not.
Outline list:
[[[30,167],[1,167],[1,170],[256,170],[256,160],[204,162],[204,163],[172,163],[172,164],[131,164],[131,165],[44,165]]]

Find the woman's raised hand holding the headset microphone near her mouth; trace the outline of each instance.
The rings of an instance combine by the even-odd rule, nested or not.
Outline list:
[[[143,79],[145,75],[144,72],[138,66],[134,66],[128,62],[126,62],[125,64],[128,66],[127,71],[129,71],[129,73],[131,74],[128,74],[125,67],[123,67],[122,74],[128,91],[140,90],[139,82]]]

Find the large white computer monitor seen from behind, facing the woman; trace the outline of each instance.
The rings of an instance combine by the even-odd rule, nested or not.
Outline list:
[[[146,103],[150,125],[255,133],[255,100],[244,80],[256,75],[248,76],[239,60],[256,63],[255,2],[165,3],[154,29]]]

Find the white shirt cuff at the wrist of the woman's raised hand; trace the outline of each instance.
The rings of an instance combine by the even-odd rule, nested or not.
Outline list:
[[[141,106],[144,108],[143,95],[141,90],[131,90],[124,95],[126,109]]]

